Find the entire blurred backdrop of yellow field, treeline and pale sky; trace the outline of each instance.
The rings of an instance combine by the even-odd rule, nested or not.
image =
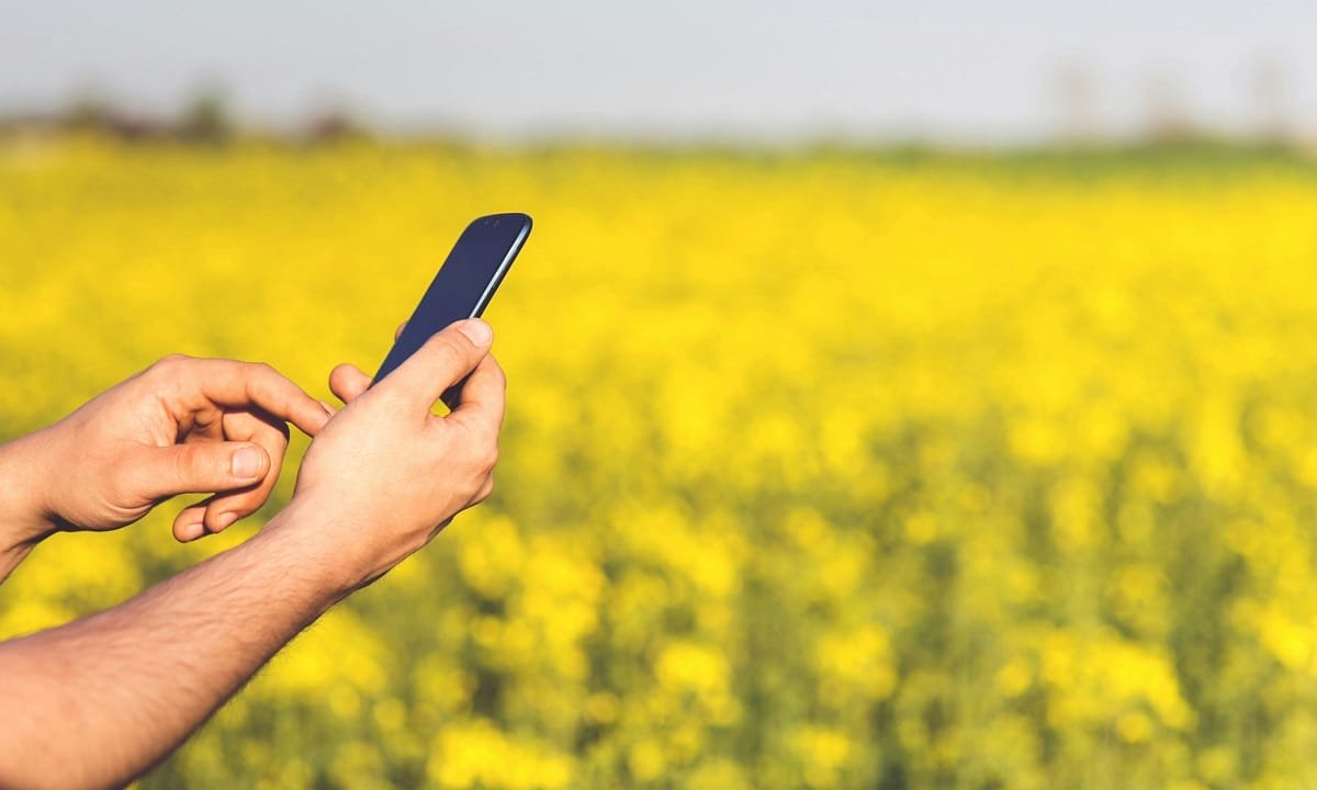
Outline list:
[[[494,496],[144,787],[1317,785],[1310,4],[0,18],[0,440],[173,352],[328,400],[536,220]]]

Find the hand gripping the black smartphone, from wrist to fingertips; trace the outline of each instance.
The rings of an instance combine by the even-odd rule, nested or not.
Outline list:
[[[435,334],[378,387],[352,365],[329,375],[348,406],[311,442],[284,517],[270,529],[308,529],[341,564],[349,591],[416,552],[494,487],[503,423],[503,370],[478,319]],[[470,374],[456,408],[431,409]],[[286,511],[286,514],[288,512]]]

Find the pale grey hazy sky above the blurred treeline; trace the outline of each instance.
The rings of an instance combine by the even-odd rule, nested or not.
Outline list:
[[[1266,59],[1317,130],[1317,0],[0,0],[0,109],[91,86],[165,112],[216,80],[249,120],[341,104],[500,138],[1027,140],[1059,128],[1067,65],[1108,132],[1143,122],[1152,83],[1239,129]]]

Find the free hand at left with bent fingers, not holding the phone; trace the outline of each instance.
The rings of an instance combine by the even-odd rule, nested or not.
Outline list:
[[[265,503],[286,421],[315,436],[328,419],[328,407],[267,365],[174,356],[3,452],[26,475],[30,542],[124,527],[175,494],[213,494],[174,520],[174,537],[188,541]]]

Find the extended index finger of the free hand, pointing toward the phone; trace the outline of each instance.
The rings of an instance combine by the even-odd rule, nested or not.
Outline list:
[[[329,420],[319,400],[274,367],[234,359],[190,359],[195,392],[225,408],[261,408],[315,436]]]

